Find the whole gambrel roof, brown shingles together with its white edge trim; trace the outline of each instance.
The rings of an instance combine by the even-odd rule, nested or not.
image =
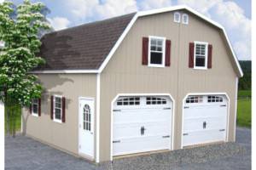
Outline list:
[[[55,31],[42,38],[41,55],[47,64],[35,73],[100,73],[108,64],[120,43],[131,30],[138,17],[174,10],[188,10],[222,31],[233,56],[232,64],[238,77],[241,66],[227,37],[224,27],[185,5],[125,14],[113,19]]]

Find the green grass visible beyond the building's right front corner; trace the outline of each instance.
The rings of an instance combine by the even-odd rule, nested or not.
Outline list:
[[[237,101],[237,125],[240,127],[251,127],[252,123],[252,100],[250,90],[238,92]]]

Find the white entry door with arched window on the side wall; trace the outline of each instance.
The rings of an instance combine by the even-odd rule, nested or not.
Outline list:
[[[94,99],[79,99],[79,154],[94,157]]]

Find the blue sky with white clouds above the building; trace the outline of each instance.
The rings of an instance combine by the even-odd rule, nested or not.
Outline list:
[[[20,3],[22,0],[13,0]],[[38,0],[32,0],[38,2]],[[40,0],[55,30],[135,11],[187,4],[223,25],[238,59],[251,59],[251,0]]]

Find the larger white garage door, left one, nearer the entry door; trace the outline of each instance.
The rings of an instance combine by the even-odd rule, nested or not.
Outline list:
[[[171,129],[169,97],[119,97],[113,105],[113,156],[171,149]]]

